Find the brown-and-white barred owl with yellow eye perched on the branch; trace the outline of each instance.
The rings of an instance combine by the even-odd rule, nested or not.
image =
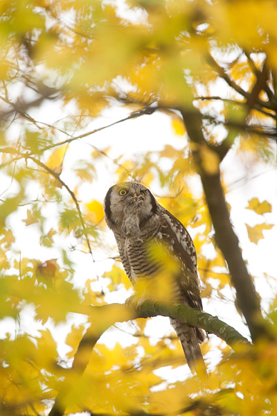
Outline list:
[[[154,291],[159,291],[160,277],[166,276],[168,285],[165,286],[164,281],[162,284],[166,288],[166,300],[202,311],[197,258],[190,234],[175,216],[159,205],[150,190],[139,182],[118,183],[107,191],[104,211],[123,267],[134,287],[140,281],[146,281],[146,286],[155,282]],[[162,256],[157,248],[162,248]],[[175,267],[168,266],[167,270],[171,259]],[[170,322],[190,370],[194,373],[199,368],[204,369],[199,347],[205,339],[203,329],[190,327],[177,319],[170,318]]]

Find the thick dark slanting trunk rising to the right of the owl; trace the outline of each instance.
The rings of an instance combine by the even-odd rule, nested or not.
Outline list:
[[[220,180],[220,166],[211,174],[204,168],[202,159],[203,146],[207,146],[203,136],[199,117],[191,117],[186,110],[180,110],[184,118],[186,130],[190,140],[195,144],[193,147],[193,158],[202,180],[206,202],[215,229],[215,241],[222,251],[231,273],[231,279],[237,293],[238,306],[241,309],[253,340],[259,336],[269,336],[265,320],[260,311],[260,300],[255,291],[247,267],[242,259],[238,237],[236,236],[229,211],[224,198],[224,191]]]

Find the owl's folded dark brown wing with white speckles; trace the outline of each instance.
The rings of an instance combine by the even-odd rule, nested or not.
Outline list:
[[[197,257],[193,240],[184,225],[163,208],[161,234],[170,253],[177,257],[181,272],[178,283],[188,306],[202,311],[202,300],[197,275]]]

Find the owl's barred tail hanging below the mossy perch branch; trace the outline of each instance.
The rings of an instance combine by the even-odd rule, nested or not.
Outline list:
[[[206,376],[206,365],[199,347],[199,343],[203,343],[206,338],[205,332],[203,329],[188,327],[184,322],[176,319],[170,319],[170,322],[184,349],[190,371],[202,377]]]

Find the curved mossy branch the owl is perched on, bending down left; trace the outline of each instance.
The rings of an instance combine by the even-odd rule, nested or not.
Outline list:
[[[222,338],[233,349],[236,349],[236,345],[238,344],[249,345],[249,341],[246,338],[217,317],[181,304],[154,304],[151,301],[145,301],[138,310],[132,310],[124,304],[110,304],[90,306],[85,309],[85,313],[89,313],[89,311],[92,324],[80,342],[74,357],[73,366],[69,370],[71,372],[70,377],[64,380],[49,416],[62,416],[64,414],[66,410],[66,397],[70,394],[72,381],[75,380],[72,375],[74,374],[76,377],[82,376],[89,363],[94,345],[96,345],[102,333],[116,322],[125,322],[136,318],[150,318],[157,315],[169,316],[170,318],[177,318],[186,322],[192,327],[203,328],[208,333],[215,333],[215,335]],[[83,313],[82,309],[80,312]]]

